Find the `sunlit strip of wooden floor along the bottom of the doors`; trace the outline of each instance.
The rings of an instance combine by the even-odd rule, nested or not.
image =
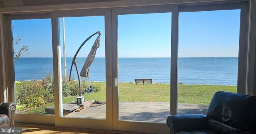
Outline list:
[[[22,127],[22,134],[146,134],[110,130],[86,130],[34,124],[16,124],[15,127]]]

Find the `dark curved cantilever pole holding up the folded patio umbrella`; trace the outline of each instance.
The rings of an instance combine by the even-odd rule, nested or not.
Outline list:
[[[82,46],[86,43],[86,41],[88,41],[92,36],[96,35],[98,33],[98,35],[100,36],[101,33],[100,31],[96,32],[96,33],[93,33],[92,35],[90,35],[81,45],[80,47],[78,48],[78,50],[76,51],[76,54],[74,55],[74,58],[72,60],[72,65],[71,65],[71,68],[70,68],[70,73],[69,73],[69,81],[71,79],[71,71],[72,71],[72,67],[73,65],[76,67],[76,73],[77,73],[77,76],[78,76],[78,83],[79,83],[79,96],[81,97],[82,96],[82,89],[81,89],[81,82],[80,82],[80,76],[79,76],[79,73],[78,73],[78,67],[77,67],[77,64],[76,64],[76,55],[78,54],[78,52],[80,51],[80,49],[82,48]]]

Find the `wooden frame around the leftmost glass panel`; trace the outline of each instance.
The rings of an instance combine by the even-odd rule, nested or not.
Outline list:
[[[12,20],[27,20],[27,19],[51,19],[50,14],[12,14],[6,15],[6,38],[8,44],[8,64],[9,67],[14,67],[14,57],[13,57],[13,44],[12,44]],[[7,69],[7,68],[6,68]],[[16,90],[15,78],[14,78],[14,68],[8,68],[8,79],[13,83],[9,83],[10,89],[8,95],[12,102],[15,102]],[[54,124],[54,115],[41,115],[41,114],[22,114],[15,113],[15,122],[23,123],[36,123],[36,124]],[[31,120],[31,118],[37,118],[38,120]]]

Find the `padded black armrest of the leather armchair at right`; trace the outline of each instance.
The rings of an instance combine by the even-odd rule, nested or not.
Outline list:
[[[203,114],[181,114],[170,115],[167,117],[167,125],[170,128],[170,134],[179,131],[193,131],[206,129],[208,118]]]

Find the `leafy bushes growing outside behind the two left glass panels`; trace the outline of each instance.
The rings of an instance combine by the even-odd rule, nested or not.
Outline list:
[[[102,87],[98,83],[92,84],[88,81],[81,81],[82,93],[91,85],[94,88],[94,92],[100,92],[102,90]],[[54,102],[54,82],[53,76],[50,73],[41,81],[34,79],[32,83],[21,85],[21,89],[20,93],[17,93],[17,102],[26,108],[36,108],[43,104]],[[64,97],[78,96],[78,81],[72,78],[67,83],[62,82],[62,95]]]

